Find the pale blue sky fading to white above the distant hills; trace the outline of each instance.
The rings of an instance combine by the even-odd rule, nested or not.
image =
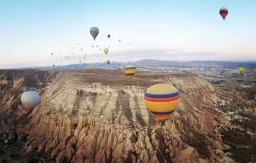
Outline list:
[[[108,59],[256,61],[255,17],[255,0],[0,0],[0,68]]]

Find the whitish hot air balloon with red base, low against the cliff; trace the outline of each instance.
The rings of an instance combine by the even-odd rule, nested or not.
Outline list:
[[[33,109],[40,101],[40,96],[36,91],[25,91],[22,93],[20,100],[29,113],[32,113]]]

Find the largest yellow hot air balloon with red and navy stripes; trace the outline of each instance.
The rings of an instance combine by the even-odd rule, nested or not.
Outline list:
[[[159,121],[169,118],[179,105],[179,91],[169,84],[156,84],[147,89],[144,100],[150,111]]]

